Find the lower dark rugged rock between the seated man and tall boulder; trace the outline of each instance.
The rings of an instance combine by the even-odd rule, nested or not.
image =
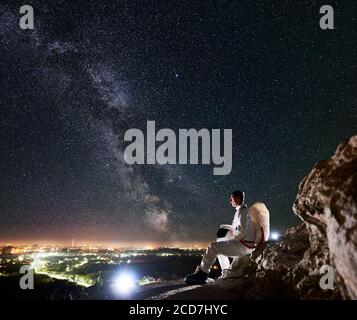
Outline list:
[[[312,230],[314,227],[306,223],[292,227],[279,241],[268,243],[261,254],[253,255],[257,265],[252,278],[256,292],[269,292],[273,284],[285,288],[290,298],[340,298],[338,290],[320,287],[320,268],[328,263],[329,254],[324,239],[312,236]],[[264,283],[264,288],[261,283]]]

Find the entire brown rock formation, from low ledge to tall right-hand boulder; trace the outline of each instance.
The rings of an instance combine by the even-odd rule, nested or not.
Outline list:
[[[163,299],[357,299],[357,136],[301,182],[293,210],[303,221],[235,267],[239,277]],[[334,269],[334,289],[320,287],[321,267]]]

